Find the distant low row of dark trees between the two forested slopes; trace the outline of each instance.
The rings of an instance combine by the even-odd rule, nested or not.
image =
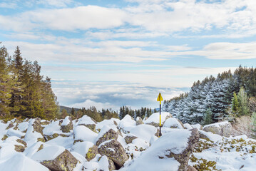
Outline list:
[[[156,110],[154,110],[156,112]],[[71,108],[71,112],[68,113],[66,109],[61,110],[61,118],[65,118],[66,116],[71,116],[72,119],[81,118],[83,115],[88,115],[97,122],[101,122],[102,120],[108,120],[111,118],[123,119],[126,115],[130,115],[134,120],[137,116],[140,118],[149,117],[152,114],[151,108],[141,108],[138,110],[132,110],[127,106],[122,106],[118,111],[114,111],[110,109],[102,109],[97,110],[95,106],[91,106],[90,108],[81,108],[79,110],[75,110],[75,108]]]

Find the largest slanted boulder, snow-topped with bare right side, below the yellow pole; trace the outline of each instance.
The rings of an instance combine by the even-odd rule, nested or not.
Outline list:
[[[152,168],[187,171],[190,155],[198,140],[199,133],[196,128],[170,130],[134,160],[127,171],[152,170]]]

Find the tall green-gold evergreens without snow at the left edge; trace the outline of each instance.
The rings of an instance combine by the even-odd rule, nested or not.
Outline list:
[[[59,109],[51,90],[51,79],[41,76],[37,61],[28,61],[21,56],[19,46],[13,56],[0,48],[0,117],[43,118],[58,117]]]

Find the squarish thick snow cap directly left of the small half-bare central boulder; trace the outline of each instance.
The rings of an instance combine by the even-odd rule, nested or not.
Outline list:
[[[78,125],[73,130],[74,140],[90,141],[95,143],[96,138],[98,137],[97,133],[94,133],[92,130],[83,125]]]

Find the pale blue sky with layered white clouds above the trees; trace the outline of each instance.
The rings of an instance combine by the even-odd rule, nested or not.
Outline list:
[[[0,41],[38,61],[60,105],[158,108],[255,67],[255,0],[0,0]]]

